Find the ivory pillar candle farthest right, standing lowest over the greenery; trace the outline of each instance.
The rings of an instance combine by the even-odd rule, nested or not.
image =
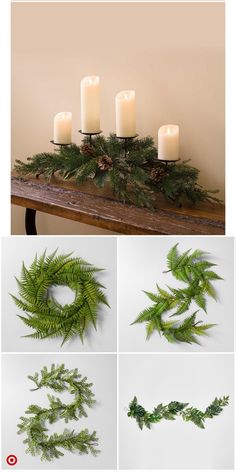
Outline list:
[[[179,126],[165,125],[158,131],[158,159],[177,161],[179,159]]]

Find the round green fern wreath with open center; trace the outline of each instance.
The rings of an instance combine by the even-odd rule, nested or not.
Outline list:
[[[27,269],[22,265],[18,296],[11,295],[24,311],[19,318],[34,330],[25,337],[45,339],[62,337],[62,345],[72,337],[84,340],[90,325],[96,329],[100,304],[109,306],[102,291],[105,288],[95,278],[98,269],[79,257],[44,253]],[[73,303],[61,305],[50,294],[52,286],[68,286],[75,294]]]

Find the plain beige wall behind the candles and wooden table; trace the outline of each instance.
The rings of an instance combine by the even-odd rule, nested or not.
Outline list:
[[[136,90],[137,128],[157,138],[178,123],[181,157],[224,196],[223,3],[15,3],[12,5],[12,157],[52,150],[53,116],[73,113],[79,142],[80,79],[102,85],[102,129],[115,129],[114,97]],[[12,233],[22,234],[14,207]],[[104,233],[39,216],[44,234]]]

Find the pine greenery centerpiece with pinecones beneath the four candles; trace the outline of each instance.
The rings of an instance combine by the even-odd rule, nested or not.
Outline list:
[[[158,161],[157,149],[151,137],[124,142],[110,134],[95,136],[92,144],[83,139],[81,146],[61,146],[56,152],[35,154],[27,163],[16,161],[19,175],[44,175],[46,179],[58,173],[64,180],[77,184],[92,180],[98,187],[110,183],[114,195],[129,204],[154,209],[158,193],[177,205],[189,200],[220,202],[216,190],[205,190],[198,183],[199,170],[189,161],[166,163]]]

